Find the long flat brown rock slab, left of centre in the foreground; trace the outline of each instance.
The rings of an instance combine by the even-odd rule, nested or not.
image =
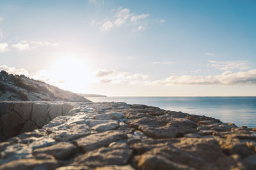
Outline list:
[[[127,135],[122,132],[106,131],[77,139],[76,143],[79,147],[83,148],[84,152],[88,152],[125,138],[127,138]]]

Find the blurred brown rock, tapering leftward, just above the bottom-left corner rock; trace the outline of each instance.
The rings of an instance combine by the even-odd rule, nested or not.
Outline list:
[[[60,142],[56,145],[47,146],[44,148],[36,148],[33,150],[33,154],[46,153],[54,156],[56,159],[66,159],[70,154],[74,153],[76,146],[67,142]]]

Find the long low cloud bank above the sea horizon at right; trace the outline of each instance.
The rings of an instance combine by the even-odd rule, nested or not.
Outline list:
[[[217,76],[170,76],[150,85],[256,85],[256,69],[244,72],[225,71]]]

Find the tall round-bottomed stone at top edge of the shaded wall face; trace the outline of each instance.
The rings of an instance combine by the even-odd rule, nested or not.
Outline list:
[[[31,120],[39,127],[43,127],[50,120],[48,117],[48,105],[45,103],[35,103],[33,105]]]

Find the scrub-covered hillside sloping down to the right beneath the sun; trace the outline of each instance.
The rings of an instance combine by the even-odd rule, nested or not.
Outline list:
[[[67,90],[24,75],[0,72],[0,101],[89,101]]]

